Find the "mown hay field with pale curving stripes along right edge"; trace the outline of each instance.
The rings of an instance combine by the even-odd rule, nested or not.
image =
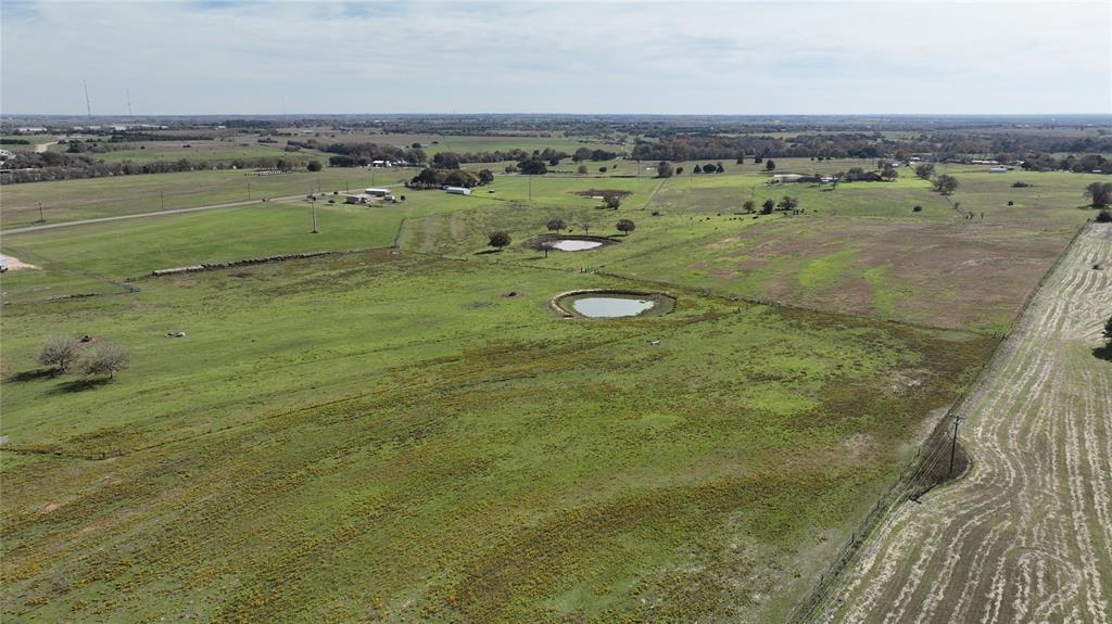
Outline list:
[[[1112,228],[1091,224],[966,402],[970,474],[892,513],[820,622],[1110,622],[1110,313]]]

